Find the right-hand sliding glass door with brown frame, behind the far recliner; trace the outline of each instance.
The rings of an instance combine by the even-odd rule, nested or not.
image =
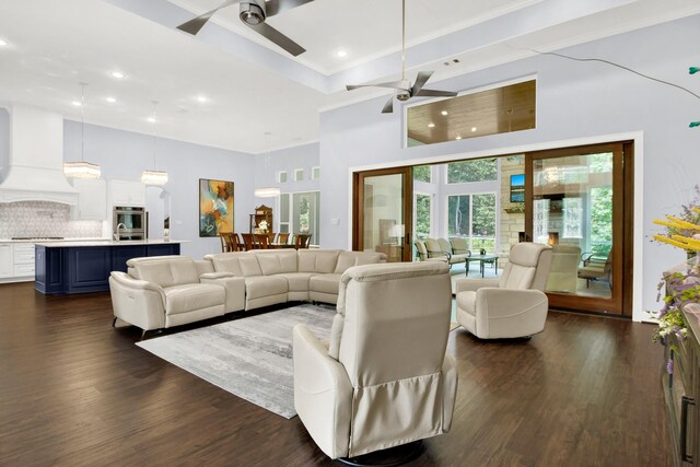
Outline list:
[[[551,307],[625,313],[623,289],[631,285],[631,270],[622,273],[631,250],[625,198],[631,190],[623,161],[622,143],[526,154],[525,231],[553,248],[545,290]]]

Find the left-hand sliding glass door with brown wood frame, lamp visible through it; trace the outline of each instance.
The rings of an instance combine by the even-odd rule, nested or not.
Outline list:
[[[358,172],[353,176],[352,249],[411,260],[412,178],[410,167]]]

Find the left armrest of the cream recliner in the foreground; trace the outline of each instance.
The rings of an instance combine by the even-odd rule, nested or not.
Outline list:
[[[294,408],[318,447],[348,456],[352,385],[340,362],[304,325],[294,326]]]

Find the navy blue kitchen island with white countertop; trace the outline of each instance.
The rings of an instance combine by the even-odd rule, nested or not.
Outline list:
[[[34,289],[45,294],[104,292],[109,273],[127,270],[127,260],[179,255],[178,241],[89,241],[36,244]]]

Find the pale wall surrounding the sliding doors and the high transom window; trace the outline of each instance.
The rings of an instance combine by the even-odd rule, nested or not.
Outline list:
[[[700,16],[666,23],[572,47],[578,57],[612,60],[653,77],[700,90],[700,79],[688,66],[700,63]],[[642,197],[643,269],[635,284],[634,318],[656,310],[661,272],[684,259],[682,252],[648,241],[658,230],[651,221],[676,212],[698,183],[700,131],[688,122],[700,114],[698,100],[677,89],[596,62],[575,62],[537,56],[433,83],[448,90],[478,89],[491,83],[537,74],[537,128],[506,135],[463,139],[404,149],[401,106],[393,115],[380,113],[386,97],[328,110],[320,115],[322,237],[328,247],[347,248],[350,238],[350,173],[353,167],[419,163],[469,155],[502,154],[542,149],[614,133],[643,135],[637,148],[637,192]],[[638,206],[642,206],[642,203]],[[339,217],[339,225],[330,223]],[[638,232],[639,234],[639,232]],[[640,245],[641,244],[641,245]],[[635,267],[640,255],[635,255]],[[643,296],[643,299],[641,299]]]

